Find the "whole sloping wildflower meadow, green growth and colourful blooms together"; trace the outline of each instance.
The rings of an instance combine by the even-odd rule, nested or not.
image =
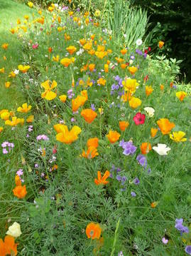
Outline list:
[[[163,42],[0,4],[0,255],[189,254],[190,85]]]

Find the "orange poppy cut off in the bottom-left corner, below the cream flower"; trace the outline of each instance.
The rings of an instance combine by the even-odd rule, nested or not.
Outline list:
[[[15,243],[14,237],[11,235],[6,235],[4,242],[2,239],[0,239],[0,255],[6,256],[6,255],[17,255],[17,245]]]

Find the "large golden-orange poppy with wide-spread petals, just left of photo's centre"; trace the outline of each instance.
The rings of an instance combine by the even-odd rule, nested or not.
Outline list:
[[[65,144],[71,144],[72,142],[77,140],[78,135],[82,131],[78,126],[73,126],[71,130],[68,130],[67,126],[64,126],[60,123],[55,125],[54,129],[58,133],[56,135],[56,140]]]

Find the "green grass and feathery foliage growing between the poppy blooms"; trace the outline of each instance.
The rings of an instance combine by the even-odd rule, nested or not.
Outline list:
[[[7,3],[8,6],[15,4],[13,1]],[[31,12],[27,6],[21,8]],[[21,8],[21,16],[28,14]],[[60,24],[58,19],[52,23],[50,15],[53,14],[61,17]],[[85,18],[78,13],[74,14],[77,17],[75,21],[67,11],[54,11],[53,14],[43,11],[45,24],[34,23],[28,28],[28,34],[23,33],[22,39],[17,38],[18,34],[8,32],[9,39],[3,32],[5,36],[2,42],[7,39],[10,46],[4,64],[8,71],[1,76],[6,79],[9,71],[20,63],[28,64],[31,68],[26,73],[19,72],[11,87],[4,89],[8,96],[1,103],[1,108],[9,108],[15,111],[16,116],[25,119],[24,125],[18,125],[14,130],[4,126],[1,121],[1,126],[4,126],[0,135],[1,143],[9,140],[16,145],[9,155],[1,154],[0,160],[1,237],[5,236],[7,227],[16,221],[22,230],[22,235],[16,239],[19,242],[18,255],[118,255],[120,251],[124,255],[185,255],[185,246],[190,244],[190,232],[180,236],[175,229],[175,219],[183,218],[185,226],[191,222],[190,120],[187,118],[190,115],[190,96],[186,96],[182,102],[178,100],[176,89],[170,88],[174,71],[168,63],[151,62],[150,58],[136,53],[136,48],[129,48],[123,56],[120,50],[125,42],[122,39],[116,43],[102,32],[102,28],[91,23],[87,26]],[[21,16],[17,13],[13,23]],[[77,24],[79,19],[80,25]],[[65,26],[65,29],[59,32],[60,26]],[[66,39],[65,34],[70,35],[70,40]],[[90,55],[88,51],[71,56],[67,53],[69,46],[82,51],[78,41],[83,38],[88,40],[91,36],[94,37],[92,48],[97,51],[97,45],[102,45],[106,51],[111,49],[111,53],[105,53],[107,56],[104,58]],[[33,49],[31,45],[36,42],[38,48]],[[48,51],[50,47],[52,52]],[[139,50],[144,49],[139,46]],[[57,55],[60,60],[75,56],[75,62],[64,67],[60,61],[53,61],[53,56]],[[120,57],[124,58],[124,63],[129,62],[131,55],[135,56],[132,65],[139,67],[135,76],[131,75],[127,66],[121,68],[116,61]],[[107,61],[111,61],[109,73],[104,71]],[[93,72],[88,70],[89,63],[95,64]],[[146,75],[149,79],[144,82]],[[100,76],[106,80],[105,86],[97,85]],[[137,108],[131,108],[129,102],[121,101],[119,96],[119,91],[124,90],[121,81],[125,81],[126,76],[136,78],[139,83],[133,95],[141,99],[141,105]],[[45,88],[40,84],[48,79],[57,82],[57,87],[52,89],[56,97],[51,101],[41,94]],[[89,82],[92,82],[92,86],[89,86]],[[113,84],[118,87],[114,89]],[[163,91],[160,84],[164,85]],[[150,96],[146,96],[146,86],[153,88]],[[72,111],[71,89],[75,94],[73,98],[87,91],[86,101],[75,113]],[[19,98],[15,97],[16,93]],[[67,95],[65,103],[60,101],[62,94]],[[32,110],[28,113],[16,112],[16,108],[24,102],[30,103]],[[92,123],[87,123],[80,113],[82,109],[93,108],[92,104],[97,117]],[[146,114],[144,108],[148,106],[155,109],[155,115],[146,115],[145,123],[136,126],[133,116],[138,112]],[[26,118],[31,113],[35,119],[30,132]],[[160,118],[168,118],[175,123],[173,131],[184,131],[187,141],[175,143],[160,130],[151,138],[151,128],[158,128]],[[129,127],[120,130],[119,121],[128,121]],[[71,144],[61,143],[54,129],[58,123],[64,123],[69,130],[79,126],[82,131],[78,138],[74,138],[73,134],[75,141]],[[116,130],[121,136],[119,140],[132,140],[136,152],[124,155],[119,140],[109,142],[106,136],[109,130]],[[64,137],[67,132],[62,133]],[[37,140],[38,135],[46,135],[49,140]],[[83,158],[82,150],[87,152],[87,140],[94,137],[99,138],[99,155],[92,159]],[[65,139],[68,138],[69,135]],[[170,152],[162,156],[151,150],[145,155],[147,168],[143,168],[136,158],[141,154],[141,144],[146,142],[151,143],[152,147],[165,143],[170,147]],[[23,184],[28,192],[23,199],[13,197],[12,193],[18,168],[23,169]],[[94,183],[98,170],[102,176],[106,170],[112,173],[113,178],[107,178],[109,183]],[[136,178],[140,180],[137,185]],[[131,195],[132,192],[136,193],[136,197]],[[151,203],[155,202],[156,206],[152,208]],[[101,227],[101,239],[87,238],[85,230],[91,222]],[[167,245],[161,242],[163,237],[169,240]]]

